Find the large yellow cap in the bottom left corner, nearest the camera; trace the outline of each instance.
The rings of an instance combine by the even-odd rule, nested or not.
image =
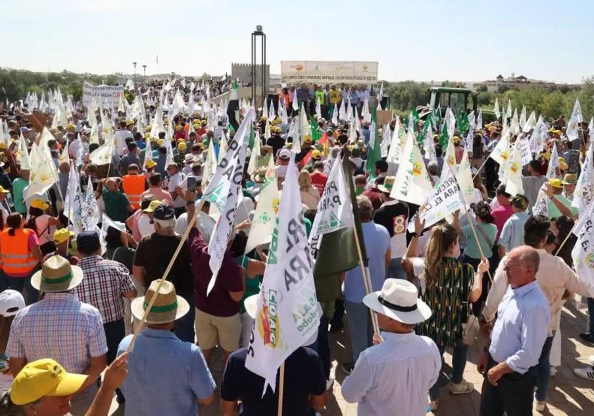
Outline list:
[[[51,358],[33,361],[17,374],[10,389],[15,405],[26,405],[44,396],[70,396],[76,393],[88,376],[67,373]]]

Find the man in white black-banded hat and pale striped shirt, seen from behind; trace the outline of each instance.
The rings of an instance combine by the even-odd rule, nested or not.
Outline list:
[[[357,414],[426,414],[427,392],[441,370],[437,345],[413,327],[431,317],[431,309],[418,297],[415,285],[402,279],[386,279],[381,291],[363,298],[377,312],[383,341],[361,352],[350,376],[342,384],[342,396],[358,403]]]

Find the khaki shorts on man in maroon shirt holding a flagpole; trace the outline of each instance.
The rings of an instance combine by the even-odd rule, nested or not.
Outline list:
[[[233,316],[214,316],[196,308],[194,322],[198,346],[202,349],[214,348],[217,344],[227,352],[239,348],[241,336],[241,319],[239,314]]]

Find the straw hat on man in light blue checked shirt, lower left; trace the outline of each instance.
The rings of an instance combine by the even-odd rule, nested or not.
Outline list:
[[[31,286],[42,292],[65,292],[80,285],[83,269],[71,266],[62,256],[52,256],[31,277]]]

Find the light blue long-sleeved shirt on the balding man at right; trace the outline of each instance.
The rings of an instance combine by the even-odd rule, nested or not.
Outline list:
[[[520,374],[538,364],[551,320],[551,309],[538,283],[508,286],[497,310],[489,354]]]

